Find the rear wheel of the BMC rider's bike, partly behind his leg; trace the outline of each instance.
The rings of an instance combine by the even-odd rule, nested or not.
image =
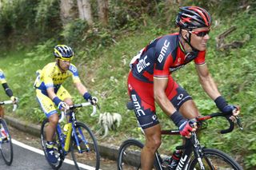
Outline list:
[[[118,170],[142,169],[141,168],[141,150],[144,144],[139,140],[125,140],[118,149]],[[154,168],[159,168],[158,159],[154,158]]]

